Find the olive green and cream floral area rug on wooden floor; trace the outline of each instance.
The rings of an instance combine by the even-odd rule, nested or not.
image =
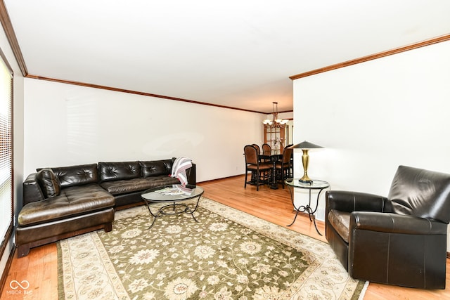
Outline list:
[[[117,211],[58,242],[60,299],[358,299],[328,244],[202,197],[191,215]]]

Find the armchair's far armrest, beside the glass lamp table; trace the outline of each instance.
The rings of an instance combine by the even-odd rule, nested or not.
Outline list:
[[[326,216],[331,209],[338,211],[379,211],[383,212],[387,197],[345,190],[327,190]]]

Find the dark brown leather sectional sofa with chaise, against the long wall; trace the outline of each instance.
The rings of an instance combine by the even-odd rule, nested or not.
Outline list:
[[[37,169],[23,183],[23,208],[15,231],[18,257],[42,244],[112,230],[115,209],[143,204],[141,193],[148,188],[179,183],[169,176],[173,162],[98,162]],[[195,164],[186,175],[188,184],[195,185]]]

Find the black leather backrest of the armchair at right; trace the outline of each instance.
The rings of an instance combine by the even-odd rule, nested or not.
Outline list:
[[[396,214],[450,222],[450,174],[399,166],[387,198]]]

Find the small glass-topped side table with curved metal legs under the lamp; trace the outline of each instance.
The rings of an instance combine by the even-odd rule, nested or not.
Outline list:
[[[285,184],[288,185],[289,191],[290,191],[290,200],[293,202],[293,207],[295,209],[295,217],[294,221],[297,219],[297,215],[299,212],[307,212],[309,215],[309,221],[314,222],[314,227],[316,228],[317,233],[319,235],[322,235],[317,229],[316,225],[316,216],[314,214],[317,211],[317,207],[319,207],[319,197],[321,196],[322,190],[325,190],[326,188],[330,188],[330,183],[326,181],[321,180],[313,180],[311,183],[302,183],[299,181],[299,178],[290,178],[285,181]],[[302,188],[309,190],[309,202],[307,205],[300,205],[299,207],[295,206],[294,202],[294,189],[295,188]],[[316,208],[312,209],[311,207],[311,190],[319,190],[319,193],[317,194],[317,200],[316,200]],[[288,226],[292,226],[293,223],[290,223]]]

